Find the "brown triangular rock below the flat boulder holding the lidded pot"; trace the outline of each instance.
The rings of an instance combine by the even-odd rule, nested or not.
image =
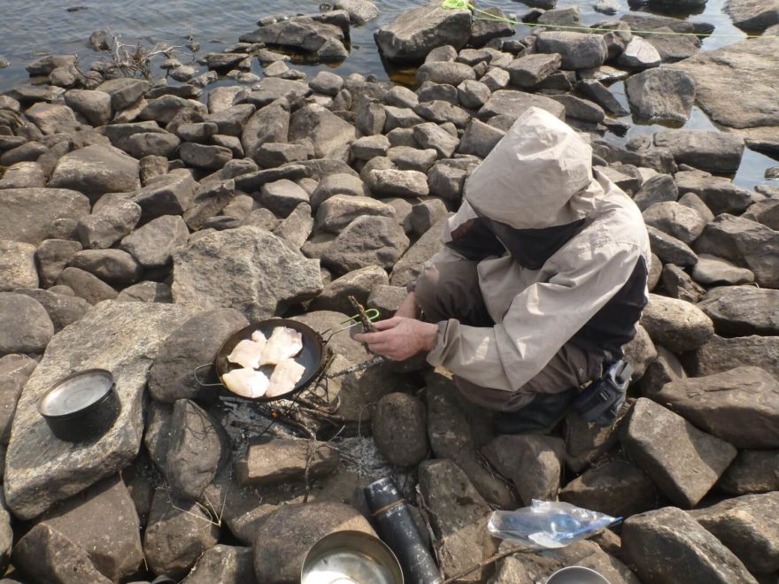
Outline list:
[[[143,561],[138,515],[119,475],[68,499],[43,515],[38,525],[84,549],[92,564],[112,581],[131,576]]]

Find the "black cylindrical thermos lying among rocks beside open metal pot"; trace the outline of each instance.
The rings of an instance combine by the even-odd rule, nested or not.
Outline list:
[[[406,584],[440,584],[436,560],[422,541],[405,498],[392,479],[385,477],[365,488],[368,507],[382,540],[395,552]]]

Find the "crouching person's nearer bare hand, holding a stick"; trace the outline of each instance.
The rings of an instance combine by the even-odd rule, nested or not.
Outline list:
[[[422,351],[436,346],[438,325],[417,319],[393,317],[374,323],[378,333],[355,334],[354,340],[365,342],[368,350],[376,355],[405,361]]]

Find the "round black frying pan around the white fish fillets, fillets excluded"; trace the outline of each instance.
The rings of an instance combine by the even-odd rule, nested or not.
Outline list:
[[[375,319],[378,317],[378,315],[379,312],[374,311],[374,313],[372,313],[372,318]],[[237,345],[239,342],[243,340],[251,339],[251,334],[254,333],[255,331],[260,331],[262,334],[265,334],[266,337],[269,338],[271,334],[273,334],[274,328],[288,327],[300,333],[303,339],[303,349],[300,351],[300,353],[297,354],[297,357],[295,357],[295,361],[297,362],[297,364],[303,365],[305,367],[303,376],[300,378],[299,381],[297,381],[295,387],[290,389],[287,393],[280,394],[278,396],[271,396],[271,397],[262,396],[262,397],[245,398],[245,399],[251,399],[252,401],[262,402],[262,403],[274,402],[275,400],[279,400],[279,399],[289,399],[291,396],[294,396],[295,394],[297,394],[297,392],[305,388],[309,383],[312,382],[312,380],[315,380],[320,376],[328,361],[327,345],[329,340],[333,338],[334,334],[340,333],[341,331],[344,331],[348,328],[359,325],[360,324],[359,321],[355,321],[354,320],[355,318],[356,317],[344,320],[343,323],[341,323],[341,324],[347,322],[351,323],[346,327],[339,328],[335,331],[332,328],[330,328],[327,331],[325,331],[324,334],[329,333],[327,340],[325,340],[321,334],[313,330],[312,327],[309,327],[308,325],[305,325],[302,322],[298,322],[297,320],[268,319],[268,320],[262,320],[257,323],[253,323],[248,327],[243,327],[241,330],[230,335],[228,337],[228,340],[222,343],[222,346],[220,347],[220,350],[217,352],[213,364],[208,363],[196,367],[194,373],[195,380],[201,387],[204,388],[221,388],[221,387],[227,388],[227,385],[225,385],[223,379],[224,376],[227,373],[229,373],[231,370],[239,369],[241,367],[241,365],[236,365],[235,363],[230,363],[228,361],[228,355],[233,352],[233,349],[235,349],[235,345]],[[217,377],[219,378],[220,382],[204,383],[204,381],[200,380],[197,377],[197,372],[203,369],[204,367],[210,367],[212,365],[216,369]]]

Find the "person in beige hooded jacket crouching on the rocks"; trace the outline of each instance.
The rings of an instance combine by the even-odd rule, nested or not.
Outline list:
[[[427,350],[468,400],[503,412],[498,430],[553,425],[621,358],[647,301],[641,212],[591,159],[529,108],[467,179],[396,317],[356,338],[392,358]]]

